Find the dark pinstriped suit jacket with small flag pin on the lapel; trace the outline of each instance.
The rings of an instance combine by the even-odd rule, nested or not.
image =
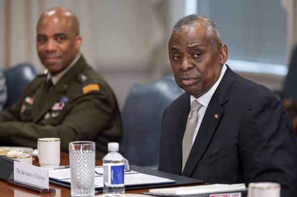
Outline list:
[[[241,78],[227,66],[181,173],[189,111],[190,95],[186,93],[165,110],[159,170],[208,183],[277,182],[282,196],[297,196],[293,126],[270,90]]]

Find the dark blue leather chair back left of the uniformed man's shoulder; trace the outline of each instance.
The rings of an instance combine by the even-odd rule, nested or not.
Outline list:
[[[28,83],[38,75],[38,72],[33,65],[21,63],[4,70],[3,73],[7,86],[7,101],[4,106],[6,108],[21,96]]]

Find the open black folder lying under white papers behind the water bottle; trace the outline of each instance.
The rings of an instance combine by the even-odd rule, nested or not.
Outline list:
[[[125,186],[125,190],[142,190],[142,189],[151,189],[151,188],[165,188],[165,187],[179,187],[179,186],[186,186],[186,185],[198,185],[198,184],[204,184],[204,181],[198,180],[198,179],[192,179],[188,177],[178,176],[175,174],[170,174],[167,172],[161,172],[158,170],[153,170],[149,168],[144,168],[136,165],[131,165],[131,170],[143,173],[143,174],[149,174],[154,175],[158,177],[168,178],[171,180],[175,180],[176,183],[162,183],[162,184],[152,184],[152,185],[137,185],[137,186]],[[58,185],[61,187],[69,188],[70,184],[67,183],[61,183],[57,180],[50,179],[50,183],[53,185]],[[96,193],[102,193],[102,189],[96,188]]]

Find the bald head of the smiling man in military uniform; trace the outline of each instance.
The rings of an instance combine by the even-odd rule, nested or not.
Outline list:
[[[61,7],[48,9],[39,18],[36,41],[41,62],[53,76],[58,74],[79,55],[77,17]]]

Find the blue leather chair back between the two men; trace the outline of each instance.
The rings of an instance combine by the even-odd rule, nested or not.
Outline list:
[[[131,164],[157,169],[162,115],[184,92],[173,77],[134,84],[122,110],[122,150]]]

